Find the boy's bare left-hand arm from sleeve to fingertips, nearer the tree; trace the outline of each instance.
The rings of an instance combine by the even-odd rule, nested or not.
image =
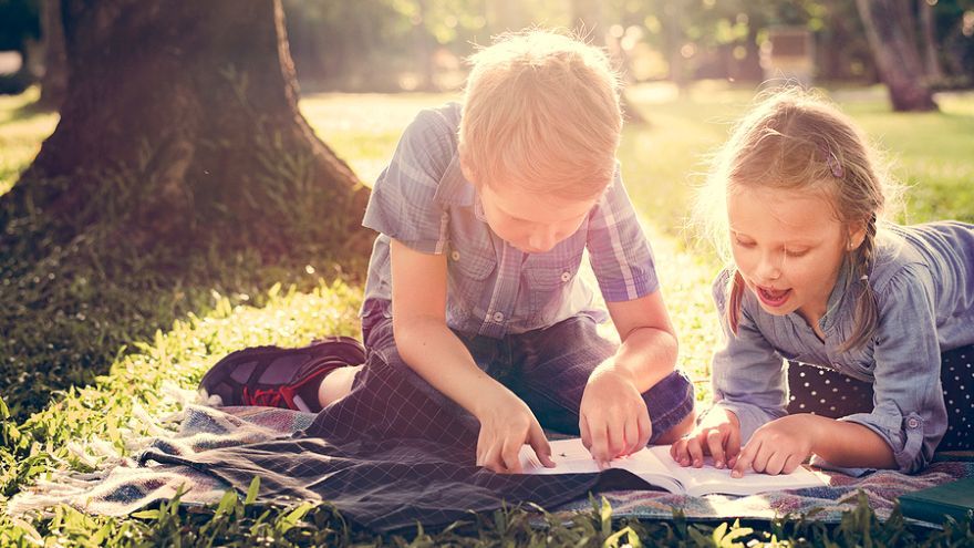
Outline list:
[[[520,472],[527,442],[545,464],[550,448],[538,421],[519,397],[474,362],[446,325],[446,258],[392,240],[393,333],[403,360],[426,382],[480,421],[477,464]]]

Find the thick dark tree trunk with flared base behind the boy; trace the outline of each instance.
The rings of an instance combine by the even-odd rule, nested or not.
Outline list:
[[[39,207],[68,237],[97,225],[135,249],[369,252],[367,189],[298,111],[280,0],[62,8],[61,122],[0,227]]]

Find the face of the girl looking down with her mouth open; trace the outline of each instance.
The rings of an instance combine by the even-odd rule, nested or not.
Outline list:
[[[737,186],[728,193],[731,248],[744,281],[768,313],[825,316],[842,257],[862,242],[821,193]]]

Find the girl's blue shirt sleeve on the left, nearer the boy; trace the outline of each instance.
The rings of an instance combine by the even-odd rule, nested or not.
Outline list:
[[[758,331],[742,307],[737,334],[725,313],[729,272],[714,281],[714,303],[724,330],[724,347],[714,353],[712,380],[714,409],[733,412],[740,422],[740,443],[747,443],[763,424],[787,414],[785,360]]]

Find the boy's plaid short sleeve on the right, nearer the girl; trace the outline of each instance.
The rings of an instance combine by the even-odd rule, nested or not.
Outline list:
[[[589,219],[589,260],[607,301],[629,301],[660,287],[653,252],[625,193],[619,166]]]

